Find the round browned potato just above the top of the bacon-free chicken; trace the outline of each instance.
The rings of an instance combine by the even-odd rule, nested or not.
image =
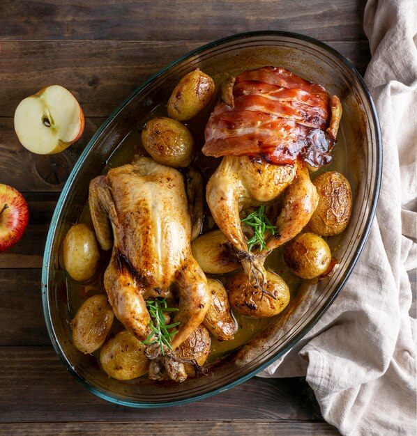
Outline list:
[[[142,130],[145,150],[162,165],[185,168],[192,159],[194,139],[185,125],[177,120],[158,116]]]

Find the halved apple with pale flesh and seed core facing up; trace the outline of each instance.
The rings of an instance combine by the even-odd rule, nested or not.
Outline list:
[[[38,155],[60,153],[84,131],[84,114],[68,89],[51,85],[25,98],[15,111],[22,146]]]

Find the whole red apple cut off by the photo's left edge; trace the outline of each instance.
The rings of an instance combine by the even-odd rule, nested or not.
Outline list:
[[[24,233],[29,210],[17,189],[0,183],[0,251],[12,247]]]

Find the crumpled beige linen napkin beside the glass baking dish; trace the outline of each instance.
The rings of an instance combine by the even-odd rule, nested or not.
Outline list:
[[[417,0],[370,0],[365,74],[383,141],[381,194],[349,281],[317,325],[259,375],[305,375],[343,435],[416,435]]]

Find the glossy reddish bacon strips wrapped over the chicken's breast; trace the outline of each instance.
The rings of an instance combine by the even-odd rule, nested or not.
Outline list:
[[[233,97],[233,107],[220,102],[208,120],[205,155],[247,155],[273,164],[294,164],[301,156],[312,166],[331,161],[330,96],[321,85],[264,67],[238,75]]]

